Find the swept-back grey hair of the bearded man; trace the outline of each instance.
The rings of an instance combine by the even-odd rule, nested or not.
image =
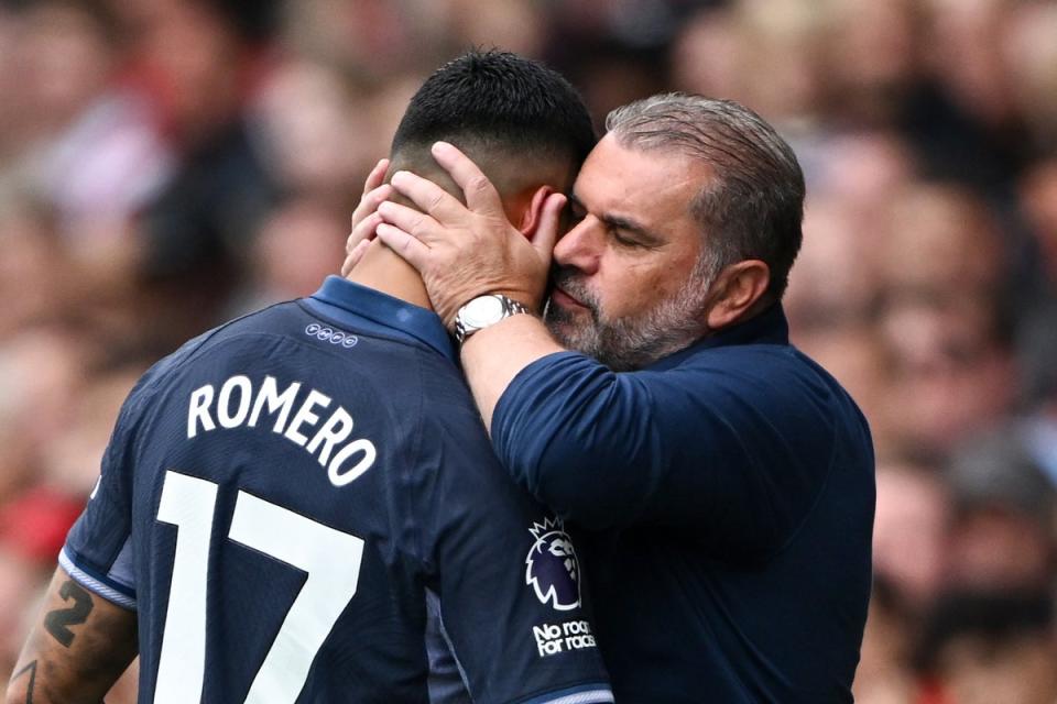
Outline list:
[[[780,299],[800,249],[804,174],[789,145],[763,118],[730,100],[663,94],[618,108],[606,119],[618,142],[667,148],[707,164],[715,178],[690,209],[706,238],[707,273],[759,258]]]

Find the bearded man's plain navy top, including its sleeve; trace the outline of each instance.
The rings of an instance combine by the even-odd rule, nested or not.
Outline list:
[[[520,484],[589,529],[618,701],[852,701],[872,441],[789,345],[781,306],[638,372],[538,360],[501,397],[492,439]]]

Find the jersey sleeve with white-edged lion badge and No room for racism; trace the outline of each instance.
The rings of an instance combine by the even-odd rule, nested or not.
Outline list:
[[[576,548],[517,488],[464,404],[426,409],[415,510],[444,631],[473,701],[612,702]]]

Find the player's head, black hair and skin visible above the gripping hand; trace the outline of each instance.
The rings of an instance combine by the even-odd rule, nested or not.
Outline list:
[[[515,224],[541,186],[571,188],[596,141],[569,81],[538,62],[498,51],[469,52],[426,79],[396,129],[389,175],[411,170],[461,199],[429,152],[442,140],[480,166]]]

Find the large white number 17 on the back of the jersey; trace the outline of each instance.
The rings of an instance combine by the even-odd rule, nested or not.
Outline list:
[[[157,519],[178,528],[156,704],[198,704],[206,667],[206,583],[217,484],[165,473]],[[228,538],[308,573],[286,612],[247,704],[291,704],[338,616],[356,594],[363,540],[240,491]]]

